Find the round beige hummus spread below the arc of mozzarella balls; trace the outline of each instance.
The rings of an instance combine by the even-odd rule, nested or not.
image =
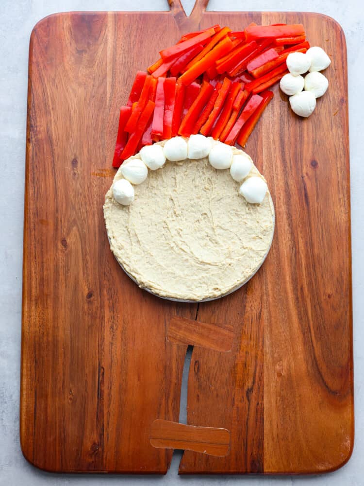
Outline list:
[[[262,177],[255,166],[253,175]],[[119,170],[114,182],[121,178]],[[261,266],[274,231],[269,192],[262,204],[249,204],[240,185],[203,158],[149,170],[130,206],[118,204],[111,187],[104,205],[111,250],[140,287],[161,297],[229,294]]]

